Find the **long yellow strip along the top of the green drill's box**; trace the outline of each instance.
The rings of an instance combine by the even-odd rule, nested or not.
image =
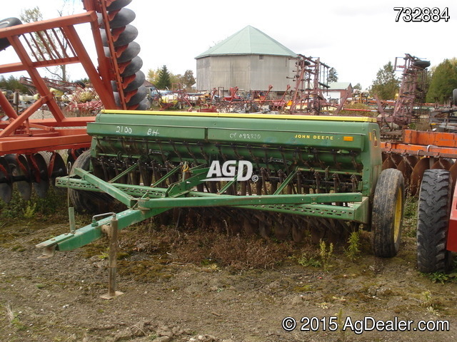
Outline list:
[[[238,113],[200,113],[200,112],[160,112],[156,110],[102,110],[106,114],[164,115],[164,116],[203,116],[206,118],[249,118],[249,119],[288,119],[319,121],[357,121],[376,123],[376,118],[364,116],[325,116],[325,115],[286,115],[286,114],[238,114]]]

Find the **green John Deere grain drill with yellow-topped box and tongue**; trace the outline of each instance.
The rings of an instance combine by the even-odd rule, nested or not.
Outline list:
[[[375,119],[106,110],[87,131],[91,149],[57,185],[77,210],[120,202],[119,229],[176,211],[198,226],[297,242],[363,225],[376,256],[398,252],[403,176],[381,172]],[[109,224],[95,217],[38,247],[76,249]]]

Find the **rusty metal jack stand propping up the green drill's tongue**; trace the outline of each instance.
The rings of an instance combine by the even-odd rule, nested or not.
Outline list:
[[[115,213],[110,213],[113,214],[111,218],[111,222],[109,226],[104,226],[102,227],[102,230],[104,228],[106,229],[106,233],[109,236],[109,274],[108,274],[108,293],[100,296],[102,299],[112,299],[116,296],[120,296],[121,294],[124,294],[124,292],[121,291],[116,291],[116,271],[117,271],[117,234],[118,234],[118,220],[116,218]],[[106,214],[102,215],[96,215],[96,216],[104,216]],[[96,216],[94,216],[94,222]]]

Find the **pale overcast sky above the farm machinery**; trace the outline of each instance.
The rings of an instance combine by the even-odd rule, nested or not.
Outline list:
[[[24,9],[39,6],[44,19],[51,19],[58,16],[64,2],[21,0],[2,13],[4,18],[19,17]],[[81,1],[69,2],[66,13],[84,11]],[[450,20],[396,22],[393,7],[408,6],[433,6],[441,11],[448,7]],[[338,81],[361,83],[363,88],[371,86],[379,68],[405,53],[427,59],[432,66],[457,57],[456,0],[133,0],[128,8],[136,13],[132,24],[139,30],[136,41],[141,45],[145,73],[166,65],[172,73],[191,69],[195,75],[196,56],[247,25],[295,53],[320,57],[336,68]],[[79,31],[89,38],[87,29],[81,25]],[[0,53],[2,64],[9,63],[10,54]],[[76,80],[84,74],[74,68],[70,77]]]

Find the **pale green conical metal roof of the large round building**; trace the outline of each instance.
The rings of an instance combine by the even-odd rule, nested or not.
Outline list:
[[[273,55],[296,57],[296,53],[275,41],[262,31],[252,26],[246,26],[221,43],[209,48],[196,59],[207,56],[224,55]]]

